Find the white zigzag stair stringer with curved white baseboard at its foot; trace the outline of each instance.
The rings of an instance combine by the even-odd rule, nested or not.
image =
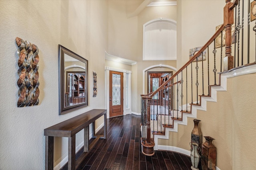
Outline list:
[[[174,120],[173,128],[165,128],[165,135],[154,135],[155,146],[154,150],[170,150],[176,151],[190,156],[190,151],[172,147],[172,146],[159,146],[158,139],[169,139],[169,132],[178,132],[178,124],[180,125],[188,125],[188,117],[196,118],[197,110],[206,111],[207,102],[217,102],[217,92],[226,92],[227,91],[227,78],[232,78],[236,76],[241,76],[245,74],[256,73],[256,64],[252,64],[249,66],[240,66],[239,68],[234,68],[229,70],[228,72],[222,72],[220,74],[220,85],[219,86],[211,86],[211,96],[201,96],[200,105],[192,105],[191,113],[183,113],[182,121]],[[184,108],[186,105],[184,105]]]

